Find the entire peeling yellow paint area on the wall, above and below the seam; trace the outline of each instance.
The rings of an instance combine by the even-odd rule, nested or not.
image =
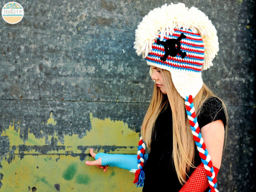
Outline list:
[[[51,129],[49,125],[56,122],[52,114],[48,122],[43,126]],[[139,133],[129,129],[128,124],[123,121],[108,118],[101,120],[92,113],[90,123],[92,129],[83,138],[79,138],[77,134],[65,135],[63,142],[60,142],[56,131],[54,135],[46,137],[40,130],[44,137],[38,139],[28,128],[27,140],[23,141],[23,137],[20,137],[22,125],[20,121],[13,119],[1,134],[9,139],[10,151],[13,151],[1,161],[1,172],[4,175],[1,191],[26,191],[28,186],[30,190],[34,187],[37,191],[60,191],[60,188],[64,191],[83,191],[84,186],[91,191],[102,191],[103,188],[99,188],[99,185],[105,183],[107,186],[107,183],[114,183],[116,179],[124,177],[123,183],[113,186],[113,190],[130,188],[131,191],[141,191],[134,186],[134,175],[127,170],[109,168],[107,173],[103,173],[101,169],[84,164],[85,159],[92,160],[88,153],[94,146],[103,152],[100,146],[108,145],[109,152],[135,154]],[[53,142],[55,147],[52,146]],[[42,152],[43,149],[46,151]],[[42,155],[43,153],[45,154]],[[105,176],[99,177],[100,174]]]

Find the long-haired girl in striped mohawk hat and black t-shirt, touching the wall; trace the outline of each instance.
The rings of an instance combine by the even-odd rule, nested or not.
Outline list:
[[[219,50],[216,34],[212,22],[195,7],[179,3],[149,12],[134,42],[155,82],[138,154],[96,155],[91,149],[96,160],[85,163],[104,171],[108,165],[135,169],[134,183],[143,191],[217,191],[226,110],[201,77]]]

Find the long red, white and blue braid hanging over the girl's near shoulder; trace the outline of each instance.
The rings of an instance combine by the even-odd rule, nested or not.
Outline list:
[[[195,143],[197,145],[197,149],[199,151],[199,155],[201,157],[202,163],[204,164],[204,169],[205,169],[205,172],[206,172],[209,184],[210,184],[211,189],[209,190],[209,192],[210,191],[218,192],[218,190],[216,189],[217,179],[215,176],[214,169],[212,167],[211,157],[208,154],[208,151],[203,142],[202,135],[200,133],[200,128],[198,126],[198,122],[197,122],[197,118],[196,118],[196,114],[195,114],[195,108],[194,108],[194,104],[193,104],[193,99],[192,99],[191,95],[189,97],[186,97],[185,105],[186,105],[186,109],[187,109],[187,115],[188,115],[188,119],[189,119],[190,128],[191,128],[192,134],[193,134],[193,139],[195,140]]]

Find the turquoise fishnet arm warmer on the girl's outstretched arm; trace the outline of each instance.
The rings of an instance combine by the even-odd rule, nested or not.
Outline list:
[[[97,160],[98,158],[102,159],[102,166],[108,165],[127,170],[138,169],[137,155],[98,153],[95,159]],[[146,162],[148,154],[145,154],[144,158]]]

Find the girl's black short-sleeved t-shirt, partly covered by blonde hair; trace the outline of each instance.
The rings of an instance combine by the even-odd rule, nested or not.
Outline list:
[[[226,116],[221,101],[217,98],[206,101],[197,119],[200,128],[215,120],[222,120],[225,125]],[[155,122],[151,151],[144,167],[143,192],[166,190],[178,192],[182,188],[172,161],[172,149],[172,110],[168,103]],[[201,158],[196,150],[194,166],[197,167],[200,164]],[[194,168],[191,168],[188,175],[193,171]]]

